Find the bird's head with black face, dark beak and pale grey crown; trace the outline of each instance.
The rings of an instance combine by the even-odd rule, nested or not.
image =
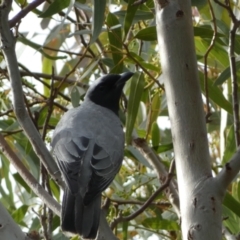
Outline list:
[[[85,99],[106,107],[118,115],[119,100],[123,87],[132,77],[132,72],[122,74],[108,74],[100,77],[90,86]]]

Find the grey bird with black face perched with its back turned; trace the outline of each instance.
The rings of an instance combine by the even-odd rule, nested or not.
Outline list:
[[[101,193],[123,161],[124,132],[119,101],[132,72],[107,74],[89,87],[84,101],[67,111],[52,137],[53,154],[66,187],[62,199],[63,232],[95,239]]]

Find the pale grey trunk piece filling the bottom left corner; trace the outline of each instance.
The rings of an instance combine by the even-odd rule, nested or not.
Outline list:
[[[0,203],[0,240],[29,240]]]

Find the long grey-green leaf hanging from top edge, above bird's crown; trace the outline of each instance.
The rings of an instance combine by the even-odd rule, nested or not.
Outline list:
[[[90,44],[94,43],[97,40],[99,34],[102,31],[106,0],[94,0],[93,6],[92,38]]]

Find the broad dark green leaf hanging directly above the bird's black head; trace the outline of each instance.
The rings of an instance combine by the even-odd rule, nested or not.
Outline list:
[[[107,16],[108,27],[119,25],[117,17],[109,13]],[[123,71],[123,55],[122,55],[122,32],[121,28],[114,28],[108,31],[109,43],[112,51],[112,58],[114,62],[114,68],[111,69],[112,73],[121,73]]]

